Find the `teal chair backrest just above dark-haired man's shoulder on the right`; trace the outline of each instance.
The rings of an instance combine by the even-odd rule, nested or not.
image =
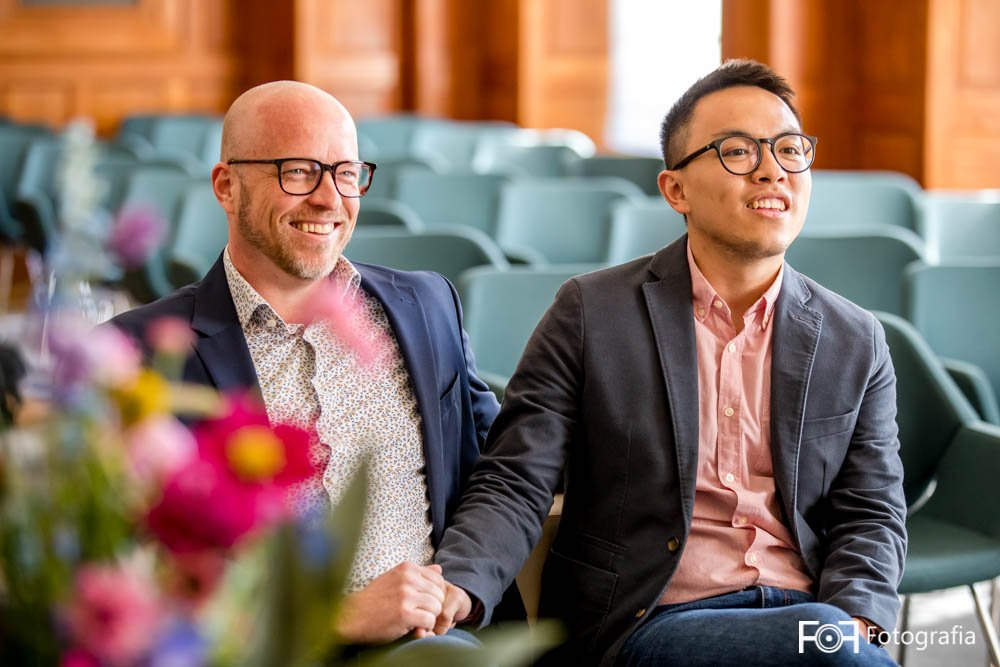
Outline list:
[[[923,241],[899,227],[847,227],[801,234],[785,258],[796,270],[862,308],[903,314],[903,276]]]

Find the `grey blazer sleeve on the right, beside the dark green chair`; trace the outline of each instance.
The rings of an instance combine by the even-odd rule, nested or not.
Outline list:
[[[832,520],[817,599],[891,630],[906,557],[906,501],[896,377],[885,331],[871,322],[874,361],[847,456],[827,495]]]

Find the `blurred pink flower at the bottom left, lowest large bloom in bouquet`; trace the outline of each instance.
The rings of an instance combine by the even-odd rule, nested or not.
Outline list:
[[[85,565],[76,575],[66,620],[77,645],[111,665],[128,665],[156,638],[161,605],[152,579],[135,569]],[[82,652],[69,654],[85,665]]]

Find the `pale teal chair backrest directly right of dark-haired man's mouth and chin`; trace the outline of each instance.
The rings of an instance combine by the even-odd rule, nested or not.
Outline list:
[[[919,229],[920,185],[909,176],[887,171],[812,172],[807,231],[846,226],[893,225]]]

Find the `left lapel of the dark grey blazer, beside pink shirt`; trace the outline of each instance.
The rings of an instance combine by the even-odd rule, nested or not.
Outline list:
[[[650,270],[659,278],[642,286],[667,386],[684,522],[690,528],[698,477],[698,353],[691,310],[687,235],[656,253]]]

